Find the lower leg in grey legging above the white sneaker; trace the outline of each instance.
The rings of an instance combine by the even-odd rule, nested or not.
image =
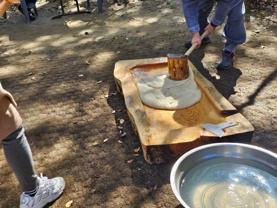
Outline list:
[[[21,125],[2,141],[6,160],[19,181],[23,192],[32,191],[38,183],[32,152]]]

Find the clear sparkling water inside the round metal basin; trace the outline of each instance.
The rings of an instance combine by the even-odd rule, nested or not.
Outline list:
[[[190,208],[277,207],[277,174],[257,162],[216,158],[184,177],[180,195]]]

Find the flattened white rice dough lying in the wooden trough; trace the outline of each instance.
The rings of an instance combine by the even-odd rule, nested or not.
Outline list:
[[[188,79],[175,81],[167,75],[141,77],[136,81],[136,88],[144,104],[158,109],[188,108],[201,99],[191,68]]]

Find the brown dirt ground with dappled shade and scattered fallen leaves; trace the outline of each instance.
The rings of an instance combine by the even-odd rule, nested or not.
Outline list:
[[[65,11],[76,11],[74,3],[64,2]],[[66,182],[61,197],[46,207],[65,207],[71,200],[72,208],[181,207],[169,180],[175,161],[150,165],[142,150],[133,156],[141,144],[113,76],[117,61],[188,50],[183,44],[191,36],[181,1],[130,0],[124,7],[105,0],[103,13],[97,1],[90,4],[79,1],[80,10],[91,14],[52,20],[61,14],[59,1],[40,0],[32,24],[15,6],[7,20],[0,19],[0,81],[18,104],[35,170]],[[262,15],[258,10],[245,15],[247,40],[238,46],[231,69],[216,71],[223,26],[189,60],[255,127],[252,144],[277,153],[277,15],[257,14]],[[116,95],[106,98],[108,93]],[[0,207],[18,207],[21,191],[2,148],[0,175]]]

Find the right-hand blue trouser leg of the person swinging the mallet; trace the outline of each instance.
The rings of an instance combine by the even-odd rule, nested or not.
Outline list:
[[[237,45],[245,42],[246,30],[244,25],[244,13],[244,1],[241,1],[230,11],[227,23],[222,32],[222,36],[226,38],[224,51],[235,52]]]

